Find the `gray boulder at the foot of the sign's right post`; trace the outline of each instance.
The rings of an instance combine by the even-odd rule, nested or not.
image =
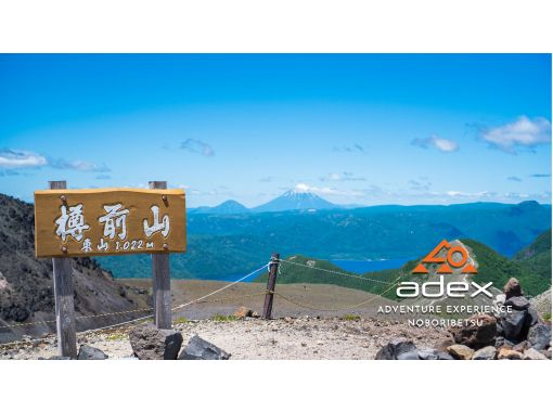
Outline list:
[[[182,335],[175,330],[158,330],[147,323],[129,333],[130,346],[140,360],[173,360],[179,356]]]

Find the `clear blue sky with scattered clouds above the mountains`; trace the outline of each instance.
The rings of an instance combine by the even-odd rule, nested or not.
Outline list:
[[[0,55],[0,192],[551,203],[551,55]]]

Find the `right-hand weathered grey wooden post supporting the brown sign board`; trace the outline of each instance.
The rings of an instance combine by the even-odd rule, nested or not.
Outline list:
[[[151,181],[150,189],[167,189],[166,181]],[[171,278],[169,253],[152,254],[152,288],[155,326],[171,329]]]

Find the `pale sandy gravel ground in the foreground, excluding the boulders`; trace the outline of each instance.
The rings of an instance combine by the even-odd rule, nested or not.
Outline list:
[[[127,326],[79,338],[108,356],[133,359]],[[185,345],[194,335],[213,343],[236,359],[374,359],[393,338],[406,338],[420,348],[447,344],[450,334],[442,329],[410,327],[398,321],[340,318],[283,318],[271,321],[201,320],[175,325]],[[48,359],[56,355],[55,337],[46,342],[0,347],[0,359]]]

